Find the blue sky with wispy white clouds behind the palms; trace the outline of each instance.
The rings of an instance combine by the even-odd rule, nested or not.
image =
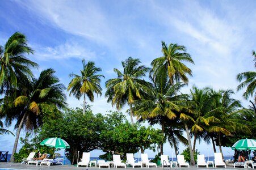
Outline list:
[[[256,50],[256,2],[246,1],[1,1],[0,45],[19,31],[27,36],[28,45],[35,50],[27,56],[39,63],[33,70],[36,77],[42,70],[53,68],[61,83],[67,87],[69,74],[80,74],[82,59],[94,61],[102,68],[102,96],[92,105],[94,113],[115,111],[104,97],[104,83],[116,78],[113,69],[122,70],[121,61],[139,58],[150,66],[153,59],[162,56],[161,41],[177,43],[187,48],[195,65],[189,84],[182,92],[213,87],[232,89],[239,84],[236,75],[254,70],[252,50]],[[234,99],[242,98],[243,91]],[[69,107],[81,107],[82,100],[68,96]],[[125,113],[126,108],[122,110]],[[135,118],[134,118],[135,120]],[[14,131],[13,126],[8,128]],[[15,133],[15,131],[14,131]],[[184,133],[185,135],[185,133]],[[24,132],[21,133],[24,136]],[[14,137],[0,137],[0,150],[11,153]],[[21,145],[18,146],[18,149]],[[179,146],[180,153],[185,146]],[[197,143],[200,154],[213,155],[212,145]],[[233,155],[223,148],[224,155]],[[149,157],[156,153],[147,150]],[[164,146],[164,154],[171,156],[174,149]],[[92,156],[102,154],[92,152]]]

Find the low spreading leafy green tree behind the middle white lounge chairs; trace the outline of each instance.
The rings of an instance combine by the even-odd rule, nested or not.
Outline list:
[[[137,123],[131,126],[121,113],[112,112],[112,114],[107,115],[106,125],[108,128],[104,129],[100,134],[102,148],[105,151],[113,151],[124,156],[126,153],[135,153],[140,148],[141,152],[146,149],[154,150],[157,143],[162,142],[160,130],[153,129],[150,126],[145,128],[145,126]],[[117,121],[114,118],[117,118]],[[113,124],[113,122],[119,123]]]

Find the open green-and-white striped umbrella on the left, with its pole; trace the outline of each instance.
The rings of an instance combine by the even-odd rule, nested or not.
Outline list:
[[[47,138],[44,139],[43,142],[40,143],[40,145],[45,145],[49,147],[54,147],[54,148],[61,148],[61,149],[66,149],[69,148],[68,142],[64,141],[64,139],[61,138]],[[54,156],[54,151],[53,151],[53,156]],[[65,151],[64,151],[64,162],[65,164]]]

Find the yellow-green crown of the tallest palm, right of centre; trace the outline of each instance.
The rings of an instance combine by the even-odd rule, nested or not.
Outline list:
[[[168,47],[164,41],[162,41],[162,53],[163,57],[156,58],[152,61],[152,72],[157,74],[161,67],[164,67],[166,73],[169,75],[171,84],[174,84],[174,80],[179,82],[181,79],[185,84],[188,83],[186,74],[192,75],[191,69],[189,69],[183,61],[194,64],[190,54],[186,53],[186,47],[178,44],[170,44]]]

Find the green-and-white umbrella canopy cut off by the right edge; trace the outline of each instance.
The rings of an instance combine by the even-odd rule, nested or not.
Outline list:
[[[232,150],[256,150],[255,139],[241,139],[234,143]]]

